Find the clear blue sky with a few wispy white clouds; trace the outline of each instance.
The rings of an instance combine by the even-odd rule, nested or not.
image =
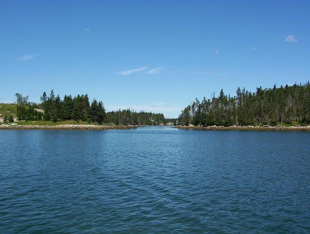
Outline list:
[[[177,117],[221,88],[309,79],[309,0],[0,0],[0,102],[54,89]]]

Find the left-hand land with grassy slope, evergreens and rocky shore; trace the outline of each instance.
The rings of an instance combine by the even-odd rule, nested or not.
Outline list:
[[[29,102],[28,96],[19,93],[16,98],[15,104],[0,104],[2,125],[15,122],[23,128],[77,128],[79,125],[83,129],[106,129],[177,123],[176,119],[165,119],[163,113],[131,109],[106,112],[103,102],[93,99],[90,103],[88,94],[65,95],[61,99],[52,90],[49,96],[46,92],[42,94],[40,103]]]

